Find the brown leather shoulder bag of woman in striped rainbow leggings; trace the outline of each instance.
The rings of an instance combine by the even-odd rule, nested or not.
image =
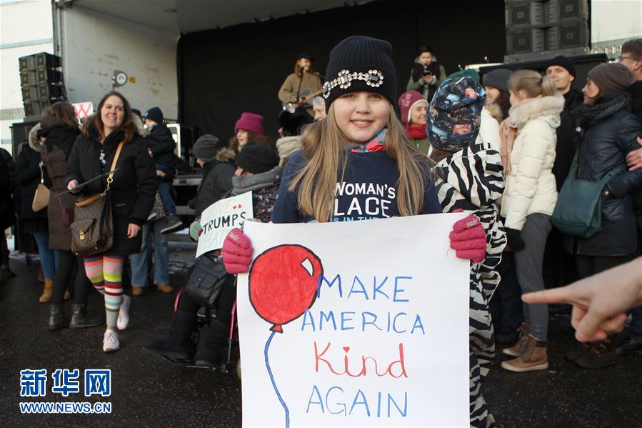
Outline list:
[[[114,224],[111,218],[111,201],[109,188],[114,181],[114,168],[121,154],[124,141],[116,149],[114,161],[111,162],[112,171],[107,176],[105,191],[89,196],[81,201],[76,201],[74,209],[74,222],[71,223],[71,252],[76,257],[89,257],[94,254],[106,252],[114,244]]]

